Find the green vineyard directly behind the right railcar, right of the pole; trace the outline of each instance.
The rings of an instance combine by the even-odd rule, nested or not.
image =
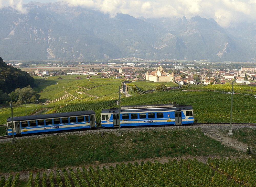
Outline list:
[[[146,98],[146,99],[145,99]],[[231,94],[211,91],[166,91],[122,98],[122,105],[178,103],[192,105],[198,122],[230,122]],[[255,123],[255,97],[235,94],[233,96],[233,122]]]

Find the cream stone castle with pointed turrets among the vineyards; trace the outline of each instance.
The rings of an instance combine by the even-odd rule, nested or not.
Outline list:
[[[154,82],[175,82],[174,74],[169,74],[163,71],[162,66],[159,66],[156,71],[146,73],[146,80]]]

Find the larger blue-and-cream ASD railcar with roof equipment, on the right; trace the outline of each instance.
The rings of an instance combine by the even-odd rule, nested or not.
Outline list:
[[[141,126],[141,125],[183,125],[193,124],[191,105],[173,104],[122,106],[120,109],[103,109],[101,126],[103,127]]]

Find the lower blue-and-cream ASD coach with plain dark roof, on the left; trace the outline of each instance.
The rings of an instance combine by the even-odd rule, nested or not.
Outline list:
[[[96,127],[95,120],[95,112],[93,110],[17,116],[13,117],[13,132],[12,118],[7,119],[7,132],[8,135],[12,135],[12,133],[14,135],[23,135],[92,128]]]

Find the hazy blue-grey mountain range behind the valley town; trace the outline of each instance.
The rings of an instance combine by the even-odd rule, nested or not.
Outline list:
[[[103,60],[124,57],[251,61],[256,24],[222,28],[214,19],[111,17],[63,2],[30,2],[26,14],[0,9],[4,60]]]

